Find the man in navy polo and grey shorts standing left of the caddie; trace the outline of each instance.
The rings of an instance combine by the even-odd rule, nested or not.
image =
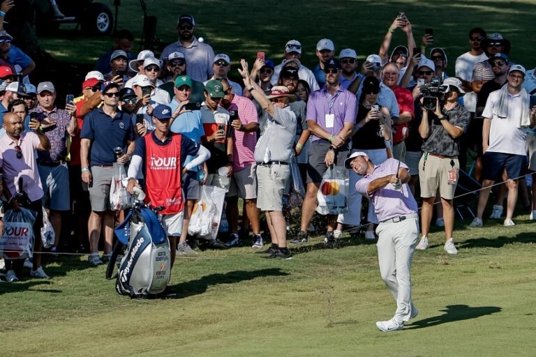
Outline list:
[[[134,130],[131,116],[118,109],[119,85],[105,82],[101,86],[103,106],[94,109],[84,117],[84,126],[80,134],[80,162],[82,164],[82,181],[89,185],[91,215],[89,216],[89,262],[102,264],[98,257],[98,239],[101,226],[104,227],[103,259],[112,254],[114,234],[114,213],[110,210],[110,186],[112,183],[114,162],[128,162],[134,151]],[[115,147],[125,152],[116,160]],[[91,156],[90,156],[91,155]],[[91,167],[90,167],[91,163]]]

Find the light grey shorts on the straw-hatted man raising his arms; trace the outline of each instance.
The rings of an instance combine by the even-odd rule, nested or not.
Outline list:
[[[260,211],[283,211],[283,190],[289,177],[288,165],[257,166],[257,207]]]

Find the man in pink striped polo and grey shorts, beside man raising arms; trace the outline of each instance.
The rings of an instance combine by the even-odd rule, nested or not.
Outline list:
[[[232,155],[232,182],[227,194],[228,220],[231,228],[229,245],[237,245],[238,238],[238,197],[246,204],[246,217],[253,231],[253,248],[262,248],[260,219],[257,208],[257,176],[255,173],[255,144],[259,123],[257,109],[251,100],[232,92],[227,79],[222,79],[224,97],[221,105],[230,112],[231,126],[234,128],[234,149]],[[246,231],[247,232],[247,231]]]

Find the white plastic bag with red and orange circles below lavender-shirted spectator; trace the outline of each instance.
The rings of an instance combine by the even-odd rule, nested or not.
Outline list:
[[[316,211],[321,215],[338,215],[348,211],[348,169],[345,167],[328,167],[320,188],[318,188],[318,206]]]

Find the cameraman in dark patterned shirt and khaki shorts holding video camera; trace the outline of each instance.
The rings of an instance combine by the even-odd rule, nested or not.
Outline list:
[[[445,251],[456,254],[458,251],[452,241],[454,229],[454,191],[458,183],[459,172],[459,140],[465,132],[470,116],[462,107],[459,96],[466,92],[461,89],[461,81],[447,78],[440,85],[439,77],[434,77],[430,84],[421,86],[422,121],[419,134],[424,143],[424,152],[419,161],[419,177],[421,183],[421,227],[422,238],[417,245],[418,250],[428,248],[428,233],[432,220],[432,207],[435,194],[439,190],[445,220]],[[434,105],[435,100],[435,105]]]

